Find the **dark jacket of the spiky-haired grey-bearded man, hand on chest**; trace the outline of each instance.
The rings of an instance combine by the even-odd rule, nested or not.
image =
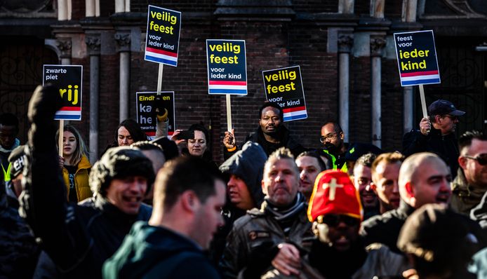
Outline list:
[[[276,219],[267,212],[267,201],[262,203],[260,210],[254,208],[236,220],[232,231],[227,237],[227,246],[220,261],[220,270],[225,278],[236,278],[245,268],[252,252],[259,247],[276,247],[279,243],[293,243],[300,249],[309,250],[314,239],[312,224],[308,221],[306,207],[302,207],[295,215],[289,235],[283,232]],[[260,255],[265,258],[265,255]],[[269,258],[272,260],[272,255]],[[260,263],[266,264],[266,263]],[[265,268],[267,269],[267,268]]]

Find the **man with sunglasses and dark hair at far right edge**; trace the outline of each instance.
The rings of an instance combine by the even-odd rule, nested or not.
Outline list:
[[[452,184],[451,207],[469,215],[487,191],[487,137],[476,130],[465,132],[458,146],[460,168]]]

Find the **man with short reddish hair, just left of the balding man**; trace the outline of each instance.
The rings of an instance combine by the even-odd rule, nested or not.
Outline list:
[[[380,214],[399,207],[399,169],[404,156],[397,152],[380,154],[372,163],[373,191],[379,198]]]

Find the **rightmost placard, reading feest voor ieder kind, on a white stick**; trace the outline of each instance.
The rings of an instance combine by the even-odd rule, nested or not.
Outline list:
[[[441,83],[432,30],[394,33],[401,86]]]

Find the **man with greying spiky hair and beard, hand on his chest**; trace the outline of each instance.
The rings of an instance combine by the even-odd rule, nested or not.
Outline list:
[[[307,249],[313,234],[306,203],[298,192],[298,167],[291,151],[281,147],[267,159],[262,176],[265,200],[234,222],[220,261],[225,278],[259,278],[271,265],[296,271],[293,262]]]

